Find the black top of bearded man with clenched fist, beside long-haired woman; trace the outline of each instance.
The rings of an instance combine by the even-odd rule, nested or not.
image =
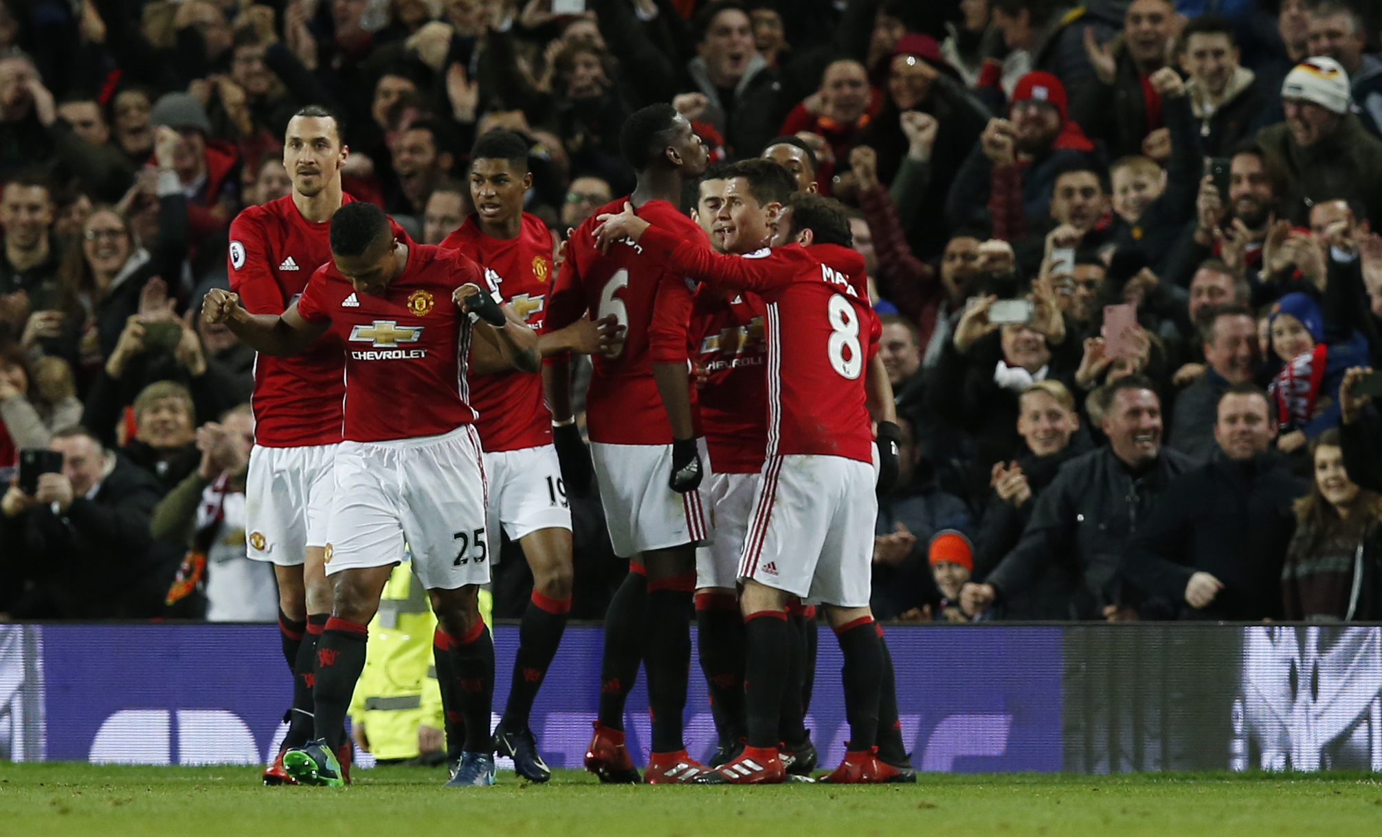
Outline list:
[[[1122,570],[1180,619],[1276,619],[1281,615],[1281,564],[1295,532],[1291,504],[1310,486],[1276,452],[1213,461],[1171,483],[1124,554]],[[1186,602],[1186,584],[1206,572],[1223,590],[1202,609]]]

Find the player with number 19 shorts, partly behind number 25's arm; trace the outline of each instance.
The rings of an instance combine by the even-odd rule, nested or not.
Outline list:
[[[470,196],[475,213],[441,243],[484,267],[515,315],[542,331],[551,293],[551,235],[522,211],[532,186],[528,144],[510,131],[489,131],[470,155]],[[553,428],[542,377],[520,370],[477,377],[470,403],[485,452],[489,483],[489,547],[499,555],[503,526],[522,546],[532,569],[532,598],[518,628],[509,703],[495,729],[495,749],[510,756],[518,775],[546,782],[551,771],[538,754],[528,724],[571,612],[571,510],[553,435],[582,449],[575,423]]]

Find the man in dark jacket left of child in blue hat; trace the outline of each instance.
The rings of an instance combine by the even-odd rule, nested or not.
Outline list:
[[[1198,463],[1215,452],[1219,398],[1234,384],[1252,381],[1259,360],[1258,323],[1242,305],[1206,309],[1200,325],[1205,370],[1176,399],[1171,446]]]

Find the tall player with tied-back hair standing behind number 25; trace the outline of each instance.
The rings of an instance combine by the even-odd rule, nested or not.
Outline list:
[[[252,314],[278,315],[303,293],[316,268],[330,261],[332,215],[352,202],[341,192],[350,149],[340,124],[311,105],[287,123],[283,167],[292,193],[252,206],[231,222],[229,279]],[[341,441],[344,360],[334,338],[293,358],[254,360],[254,449],[246,477],[246,544],[250,558],[274,564],[283,656],[293,671],[293,709],[283,749],[312,733],[316,639],[332,606],[322,554],[330,515],[332,464]],[[350,747],[341,750],[348,776]],[[287,779],[279,757],[265,785]]]

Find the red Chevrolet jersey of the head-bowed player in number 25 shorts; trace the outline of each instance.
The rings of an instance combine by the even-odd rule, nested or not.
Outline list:
[[[467,282],[492,285],[455,250],[406,240],[408,264],[384,296],[357,294],[325,264],[297,312],[326,323],[346,345],[346,438],[384,442],[451,432],[475,420],[466,365],[470,318],[451,301]]]

